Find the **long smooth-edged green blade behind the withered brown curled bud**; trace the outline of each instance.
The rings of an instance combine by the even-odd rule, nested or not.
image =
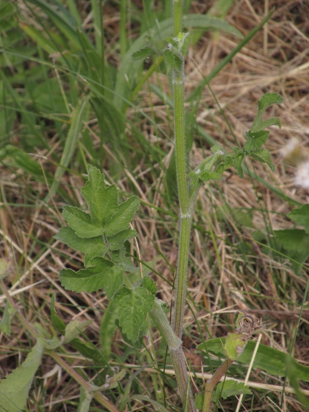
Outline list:
[[[225,345],[225,338],[209,339],[205,343],[198,345],[198,350],[211,352],[216,355],[221,355],[225,357],[225,350],[223,345]],[[236,362],[243,363],[244,365],[249,365],[255,350],[255,341],[249,341],[247,346],[244,348],[242,354],[237,358]],[[255,356],[253,362],[253,368],[260,368],[266,371],[268,374],[275,376],[286,376],[286,364],[290,361],[295,366],[297,371],[297,379],[309,382],[309,367],[297,363],[294,358],[290,355],[280,352],[260,343],[258,347],[258,352]]]

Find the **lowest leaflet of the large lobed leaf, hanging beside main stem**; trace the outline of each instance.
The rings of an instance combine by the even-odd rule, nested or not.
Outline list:
[[[118,308],[119,325],[130,341],[136,342],[139,330],[155,303],[155,296],[146,288],[121,288],[113,298]]]

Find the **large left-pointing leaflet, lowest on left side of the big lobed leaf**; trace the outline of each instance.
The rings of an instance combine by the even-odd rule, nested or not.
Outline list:
[[[93,265],[78,272],[72,271],[72,269],[61,269],[62,286],[78,293],[91,293],[104,288],[106,296],[111,299],[122,286],[124,275],[121,268],[104,258],[94,258]]]

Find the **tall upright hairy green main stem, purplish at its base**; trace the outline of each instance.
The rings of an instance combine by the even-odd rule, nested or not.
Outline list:
[[[177,38],[182,30],[183,0],[173,1],[174,36]],[[175,302],[173,314],[173,330],[181,339],[183,333],[183,317],[185,313],[185,297],[187,295],[187,262],[189,258],[192,210],[187,184],[187,155],[185,151],[185,111],[184,111],[185,60],[181,70],[172,69],[172,89],[174,97],[174,138],[176,148],[176,175],[180,205],[179,250],[175,279]],[[170,348],[170,356],[174,365],[177,385],[183,402],[183,408],[188,412],[196,412],[190,380],[187,375],[187,365],[183,348]]]

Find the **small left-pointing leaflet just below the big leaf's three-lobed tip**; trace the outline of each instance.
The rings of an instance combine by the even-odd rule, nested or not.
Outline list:
[[[80,238],[71,227],[62,227],[54,238],[67,244],[67,246],[76,251],[87,253],[87,255],[89,255],[88,258],[91,259],[95,258],[95,256],[101,256],[103,258],[107,251],[102,236]]]

